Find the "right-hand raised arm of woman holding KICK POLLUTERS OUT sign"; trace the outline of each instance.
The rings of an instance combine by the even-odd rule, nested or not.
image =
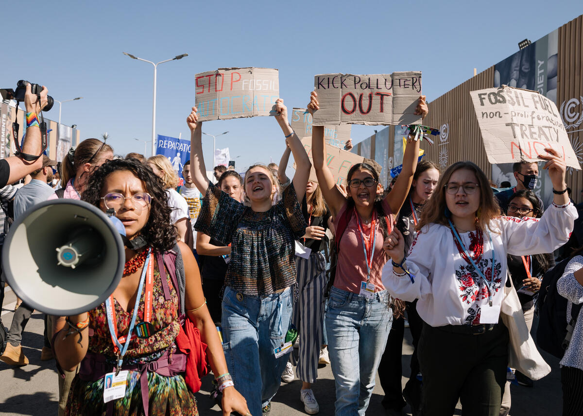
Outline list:
[[[427,112],[425,96],[420,96],[415,114],[421,115],[422,118],[425,118]],[[391,207],[393,213],[399,212],[409,193],[409,188],[413,182],[413,175],[417,168],[420,141],[421,140],[412,140],[409,136],[407,147],[405,147],[405,154],[403,154],[403,169],[401,170],[401,173],[399,173],[399,177],[395,181],[395,185],[393,185],[391,192],[385,196],[385,202]]]

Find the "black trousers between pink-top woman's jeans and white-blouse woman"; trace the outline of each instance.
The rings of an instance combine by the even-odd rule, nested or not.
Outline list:
[[[412,395],[417,397],[420,394],[421,382],[417,380],[419,373],[419,360],[417,359],[417,344],[423,329],[423,319],[417,313],[417,301],[406,302],[407,318],[409,329],[413,337],[413,355],[411,355],[411,372],[409,380],[405,385],[405,390],[416,390]],[[403,373],[403,337],[405,336],[405,319],[393,320],[393,326],[387,340],[387,347],[382,354],[381,364],[378,366],[378,378],[381,382],[385,397],[382,399],[382,406],[385,408],[398,409],[405,407],[405,400],[402,394],[401,378]]]

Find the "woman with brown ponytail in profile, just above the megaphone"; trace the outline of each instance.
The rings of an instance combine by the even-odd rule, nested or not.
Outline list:
[[[48,199],[81,199],[93,171],[113,159],[113,149],[98,139],[85,139],[73,149],[69,149],[61,163],[62,188]]]

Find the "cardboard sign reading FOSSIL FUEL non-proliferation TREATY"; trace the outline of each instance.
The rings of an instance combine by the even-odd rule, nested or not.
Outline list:
[[[540,161],[552,147],[580,169],[557,105],[537,91],[503,86],[470,91],[490,163]]]

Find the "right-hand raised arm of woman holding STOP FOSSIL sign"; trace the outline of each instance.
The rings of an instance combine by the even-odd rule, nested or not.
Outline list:
[[[308,184],[308,178],[310,178],[312,164],[308,154],[305,153],[303,144],[301,144],[300,139],[287,121],[287,107],[283,105],[281,98],[278,98],[278,101],[275,102],[275,111],[275,119],[282,128],[283,135],[286,136],[287,145],[290,147],[293,158],[296,161],[296,173],[293,175],[292,181],[297,200],[301,202],[304,199],[305,186]]]

